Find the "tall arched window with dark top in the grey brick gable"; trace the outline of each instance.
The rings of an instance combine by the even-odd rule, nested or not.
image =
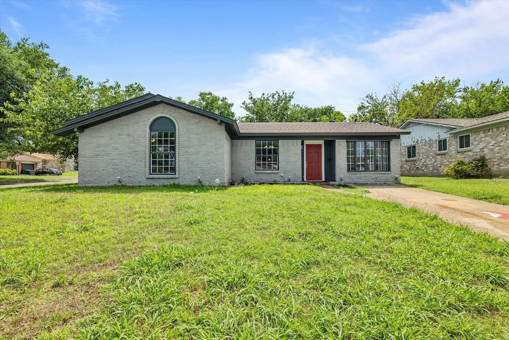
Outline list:
[[[150,173],[175,175],[176,128],[173,120],[159,117],[150,125]]]

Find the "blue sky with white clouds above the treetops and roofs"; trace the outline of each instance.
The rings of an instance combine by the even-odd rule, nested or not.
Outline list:
[[[0,29],[99,82],[226,96],[295,91],[349,114],[368,93],[434,77],[509,85],[509,1],[10,1]]]

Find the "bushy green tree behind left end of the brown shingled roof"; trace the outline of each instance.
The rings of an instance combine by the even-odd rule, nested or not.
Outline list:
[[[242,108],[247,115],[239,120],[247,123],[287,122],[290,121],[292,100],[295,92],[262,93],[260,97],[253,97],[249,92],[248,101],[242,102]]]

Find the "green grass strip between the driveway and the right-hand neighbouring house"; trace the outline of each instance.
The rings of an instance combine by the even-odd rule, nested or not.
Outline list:
[[[509,178],[401,177],[405,186],[509,205]]]

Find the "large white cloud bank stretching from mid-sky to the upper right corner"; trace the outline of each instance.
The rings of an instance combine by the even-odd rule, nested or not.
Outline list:
[[[261,55],[244,81],[218,93],[237,107],[248,91],[259,96],[284,89],[295,91],[296,103],[333,104],[349,114],[364,95],[385,93],[400,81],[409,87],[435,76],[473,82],[491,74],[508,75],[509,2],[451,4],[448,12],[415,17],[408,24],[406,30],[359,45],[363,57],[315,47]]]

